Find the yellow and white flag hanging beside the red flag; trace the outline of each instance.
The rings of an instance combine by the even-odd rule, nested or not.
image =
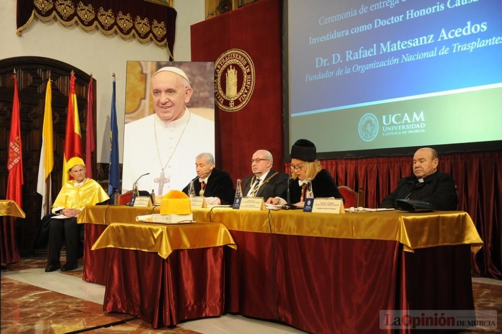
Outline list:
[[[42,195],[41,218],[50,213],[52,207],[51,172],[54,168],[54,144],[52,132],[52,82],[47,81],[45,93],[44,125],[42,129],[42,149],[38,166],[37,193]]]

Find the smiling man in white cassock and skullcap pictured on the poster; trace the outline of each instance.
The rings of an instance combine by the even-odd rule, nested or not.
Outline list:
[[[214,152],[214,122],[185,106],[193,90],[185,72],[163,67],[151,79],[155,114],[126,124],[123,153],[123,191],[152,190],[165,195],[181,190],[192,179],[194,158]]]

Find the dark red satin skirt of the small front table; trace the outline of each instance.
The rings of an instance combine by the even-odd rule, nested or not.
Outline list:
[[[153,328],[223,314],[223,246],[157,253],[108,248],[103,310],[139,316]],[[93,251],[95,252],[95,251]]]

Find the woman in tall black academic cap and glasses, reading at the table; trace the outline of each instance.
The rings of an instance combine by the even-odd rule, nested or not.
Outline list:
[[[343,199],[331,174],[321,168],[321,163],[317,159],[316,147],[310,140],[298,139],[291,147],[291,178],[293,181],[289,183],[289,193],[290,201],[293,204],[299,206],[304,204],[308,179],[312,180],[314,198]],[[298,181],[296,181],[297,179]],[[273,198],[268,203],[277,205],[283,204],[285,201],[283,198]]]

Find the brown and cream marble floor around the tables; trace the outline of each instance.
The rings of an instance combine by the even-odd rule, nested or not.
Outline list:
[[[64,259],[63,259],[64,260]],[[64,261],[62,261],[64,263]],[[303,333],[287,325],[226,314],[152,329],[129,314],[102,310],[104,286],[81,279],[82,263],[70,272],[44,272],[45,258],[24,258],[2,270],[0,332],[4,333]],[[473,278],[476,308],[496,309],[502,332],[502,281]]]

